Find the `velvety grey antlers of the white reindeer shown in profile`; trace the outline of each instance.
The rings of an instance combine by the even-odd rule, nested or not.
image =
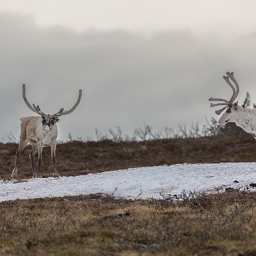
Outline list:
[[[230,100],[225,100],[225,99],[217,99],[217,98],[209,98],[209,101],[222,101],[223,103],[216,103],[216,104],[212,104],[211,103],[211,108],[216,107],[216,106],[225,106],[219,110],[216,110],[215,113],[217,115],[220,115],[220,113],[228,108],[228,106],[231,106],[232,103],[234,102],[234,100],[236,99],[237,95],[239,94],[239,84],[237,83],[235,77],[234,77],[234,72],[226,72],[227,76],[223,76],[224,80],[226,81],[226,83],[231,87],[233,93],[232,96],[230,98]],[[234,87],[234,85],[230,82],[230,80],[232,80],[232,82],[236,85],[236,88]]]

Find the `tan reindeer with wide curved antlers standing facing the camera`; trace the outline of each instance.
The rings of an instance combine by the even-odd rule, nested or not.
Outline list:
[[[26,85],[22,85],[22,97],[28,106],[29,109],[34,111],[40,116],[28,116],[20,118],[20,143],[19,147],[16,150],[15,157],[15,165],[12,171],[12,178],[16,178],[18,175],[18,162],[20,157],[20,152],[23,150],[26,145],[31,144],[32,150],[29,154],[29,159],[33,171],[33,178],[40,178],[40,166],[42,162],[42,150],[44,147],[51,147],[51,157],[53,164],[53,177],[58,177],[58,172],[56,168],[56,159],[55,159],[55,151],[56,151],[56,139],[58,135],[58,129],[56,123],[60,120],[59,117],[63,115],[68,115],[72,113],[76,107],[78,106],[81,97],[82,90],[79,90],[79,95],[76,104],[68,111],[64,111],[63,108],[60,109],[59,112],[53,115],[46,115],[41,111],[39,106],[31,106],[26,98]],[[35,156],[38,154],[38,170],[35,168]]]

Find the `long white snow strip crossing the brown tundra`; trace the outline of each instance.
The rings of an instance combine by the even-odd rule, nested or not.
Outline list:
[[[183,190],[214,193],[228,187],[246,188],[250,183],[256,183],[256,163],[175,164],[26,182],[0,180],[0,202],[94,193],[116,198],[161,198],[163,194],[180,195]]]

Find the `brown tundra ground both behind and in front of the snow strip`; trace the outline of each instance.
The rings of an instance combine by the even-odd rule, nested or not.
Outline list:
[[[0,144],[8,179],[15,144]],[[25,148],[20,178],[31,177]],[[60,175],[176,163],[255,161],[248,134],[114,143],[73,141],[57,147]],[[44,149],[42,176],[52,173]],[[0,255],[256,255],[256,193],[227,191],[183,202],[68,196],[0,203]]]

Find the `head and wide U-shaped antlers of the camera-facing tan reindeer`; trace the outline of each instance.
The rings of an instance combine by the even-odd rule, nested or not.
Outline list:
[[[76,107],[78,106],[78,104],[81,100],[81,97],[82,97],[82,90],[81,89],[79,90],[77,102],[76,102],[76,104],[74,104],[74,106],[72,108],[70,108],[69,110],[65,110],[65,111],[64,111],[64,108],[61,108],[60,111],[58,111],[57,113],[55,113],[53,115],[45,114],[44,112],[41,111],[41,109],[39,108],[38,105],[35,106],[35,104],[33,104],[33,106],[31,106],[31,104],[29,104],[29,102],[26,98],[26,84],[22,85],[22,97],[29,109],[31,109],[38,115],[42,116],[42,125],[44,127],[44,132],[51,132],[53,125],[56,124],[56,122],[58,122],[60,120],[59,119],[60,116],[68,115],[76,109]]]

